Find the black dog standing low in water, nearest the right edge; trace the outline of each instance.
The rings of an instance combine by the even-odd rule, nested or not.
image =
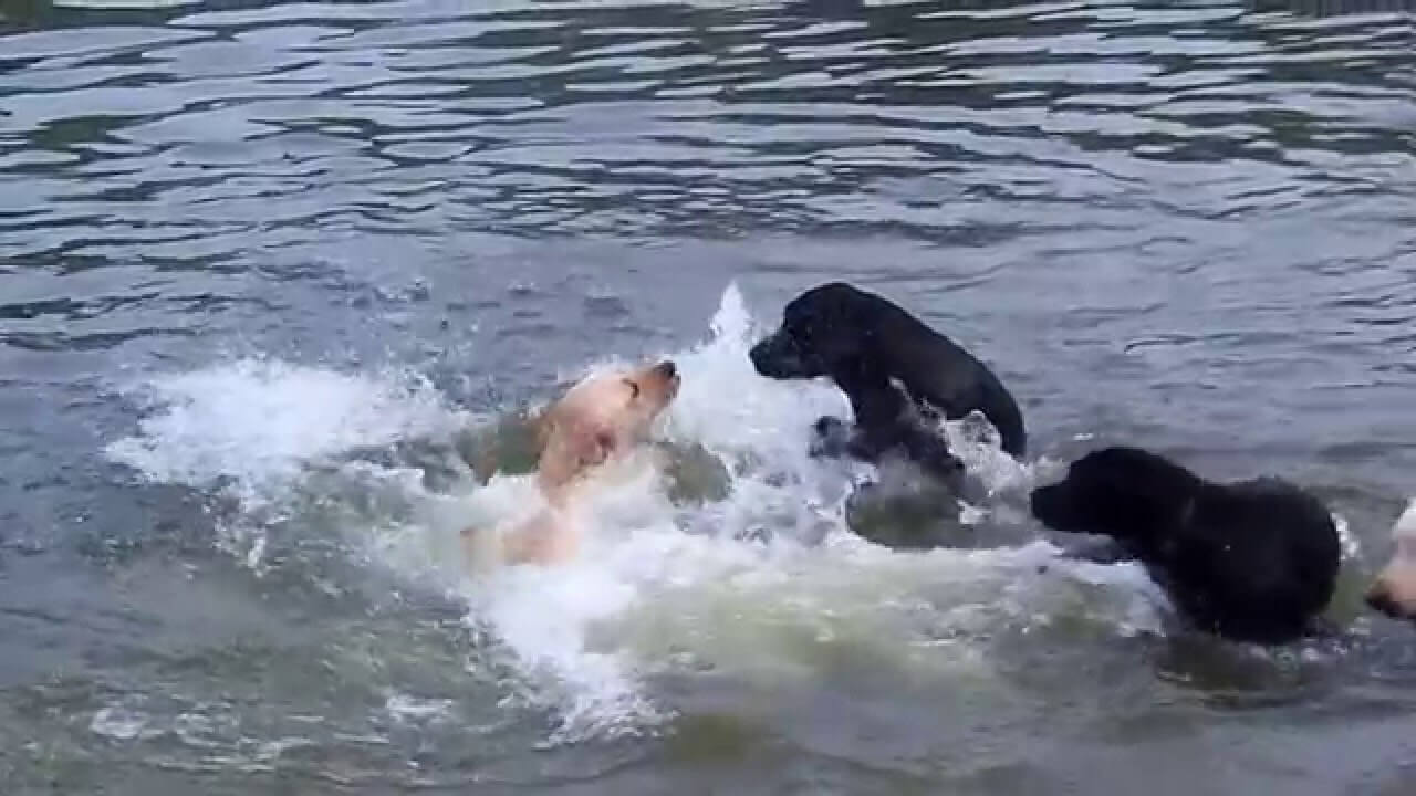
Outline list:
[[[1338,537],[1320,500],[1262,477],[1214,483],[1155,453],[1107,448],[1032,491],[1058,531],[1106,534],[1140,559],[1197,626],[1284,643],[1332,599]]]

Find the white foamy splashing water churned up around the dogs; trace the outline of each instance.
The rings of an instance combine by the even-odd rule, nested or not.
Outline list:
[[[810,423],[850,405],[824,382],[758,377],[748,347],[759,331],[729,286],[708,340],[673,354],[683,388],[660,433],[716,457],[726,496],[675,504],[651,459],[633,459],[589,499],[583,554],[558,567],[472,571],[460,558],[457,530],[524,504],[525,477],[449,493],[412,466],[341,459],[479,422],[412,374],[244,360],[159,377],[135,392],[150,411],[137,433],[108,455],[147,480],[235,497],[252,565],[273,544],[269,507],[313,521],[302,507],[333,494],[337,531],[365,558],[409,582],[433,574],[466,601],[469,625],[515,671],[507,703],[554,711],[554,741],[653,728],[673,712],[653,695],[661,674],[712,669],[770,684],[816,676],[830,650],[908,677],[977,678],[990,676],[981,639],[1008,627],[1066,613],[1113,633],[1158,632],[1164,599],[1136,565],[1065,562],[1042,541],[895,552],[850,533],[845,499],[874,470],[806,455]],[[990,432],[976,419],[946,425],[990,493],[1027,489],[1039,465],[1014,462]],[[320,480],[330,472],[341,490]],[[323,500],[302,503],[312,490]],[[1000,506],[964,506],[963,518],[1007,514]]]

